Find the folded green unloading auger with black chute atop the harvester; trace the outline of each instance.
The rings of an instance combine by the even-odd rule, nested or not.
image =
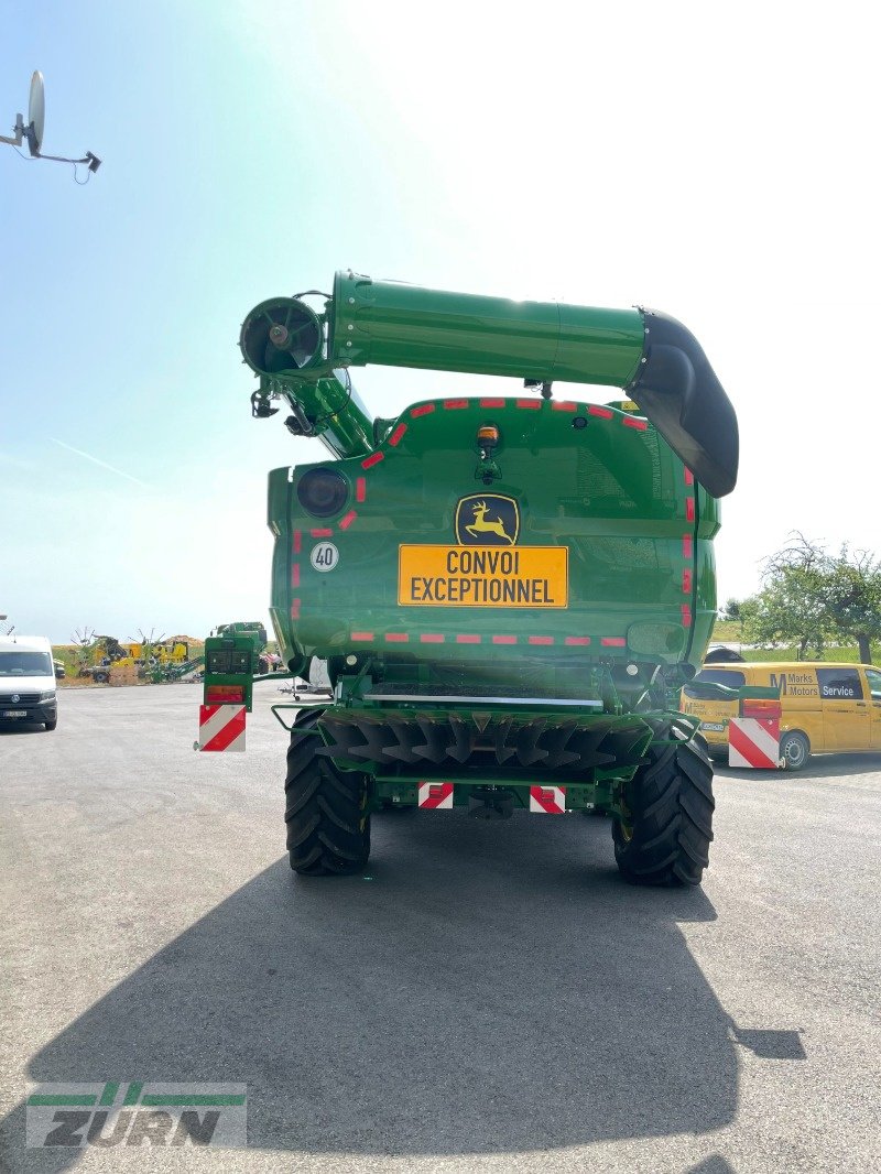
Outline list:
[[[737,483],[734,409],[694,336],[652,310],[513,302],[339,271],[323,316],[295,298],[264,302],[240,345],[316,434],[331,433],[325,443],[338,456],[372,444],[371,421],[339,375],[371,363],[620,387],[713,495]],[[315,403],[322,383],[332,424]]]

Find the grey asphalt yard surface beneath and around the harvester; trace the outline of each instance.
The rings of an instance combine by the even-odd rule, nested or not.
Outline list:
[[[196,686],[68,689],[0,731],[4,1168],[881,1168],[881,755],[717,775],[704,886],[606,819],[377,816],[300,879],[287,737],[195,754]],[[248,1146],[25,1148],[34,1085],[248,1086]]]

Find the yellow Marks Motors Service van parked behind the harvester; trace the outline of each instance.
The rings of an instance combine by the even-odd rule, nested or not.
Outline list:
[[[682,689],[680,704],[682,713],[700,718],[700,731],[711,755],[721,757],[728,753],[728,721],[738,716],[740,703],[737,697],[714,690],[714,686],[779,690],[780,757],[787,770],[799,770],[812,754],[881,750],[881,670],[870,664],[828,661],[705,664]]]

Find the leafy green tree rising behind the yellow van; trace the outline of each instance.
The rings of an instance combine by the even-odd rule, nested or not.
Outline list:
[[[881,640],[881,564],[867,551],[839,554],[795,531],[765,561],[761,591],[741,603],[749,640],[795,645],[799,660],[822,656],[829,639],[855,641],[869,663],[870,642]]]

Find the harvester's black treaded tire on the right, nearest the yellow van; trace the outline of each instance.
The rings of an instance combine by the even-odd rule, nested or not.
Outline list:
[[[614,857],[632,884],[697,885],[709,864],[715,807],[706,743],[665,723],[655,726],[654,740],[624,784],[625,812],[612,824]]]

